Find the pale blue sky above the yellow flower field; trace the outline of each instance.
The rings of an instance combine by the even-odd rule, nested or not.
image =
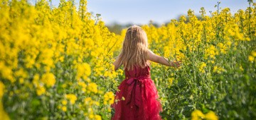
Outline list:
[[[188,9],[200,14],[200,8],[216,11],[214,6],[220,1],[220,8],[228,7],[231,13],[249,6],[247,0],[88,0],[87,11],[101,18],[107,25],[111,23],[120,24],[148,24],[150,20],[154,23],[166,23],[181,15],[186,15]],[[59,1],[53,0],[53,5],[58,6]],[[79,0],[75,0],[78,6]]]

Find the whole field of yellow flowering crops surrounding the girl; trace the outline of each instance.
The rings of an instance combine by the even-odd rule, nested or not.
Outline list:
[[[126,30],[115,35],[79,5],[0,0],[0,119],[110,119]],[[234,14],[218,6],[142,26],[155,54],[183,61],[151,63],[163,119],[256,117],[256,4]]]

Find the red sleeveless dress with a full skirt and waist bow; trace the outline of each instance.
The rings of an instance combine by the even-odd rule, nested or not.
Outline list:
[[[115,112],[112,120],[161,119],[161,104],[157,100],[156,86],[150,78],[149,66],[134,66],[132,71],[125,70],[125,79],[118,89],[114,98],[118,102],[111,105]]]

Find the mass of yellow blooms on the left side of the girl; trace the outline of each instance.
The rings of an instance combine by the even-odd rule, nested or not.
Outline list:
[[[122,37],[87,12],[85,0],[78,9],[73,1],[0,3],[0,119],[110,118],[102,96],[117,88],[122,71],[112,62]]]

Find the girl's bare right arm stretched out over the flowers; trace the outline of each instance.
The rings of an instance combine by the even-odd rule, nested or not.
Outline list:
[[[154,61],[159,64],[163,64],[165,66],[174,66],[174,67],[179,67],[181,66],[181,63],[178,61],[169,61],[169,59],[166,59],[163,56],[158,56],[154,54],[151,50],[149,50],[149,61]]]

